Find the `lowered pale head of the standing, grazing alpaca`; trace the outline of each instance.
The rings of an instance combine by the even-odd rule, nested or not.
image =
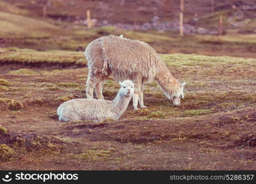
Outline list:
[[[177,82],[175,86],[173,86],[172,90],[170,90],[170,99],[174,103],[174,106],[179,106],[180,105],[180,99],[184,98],[184,86],[186,85],[186,82],[183,82],[180,84]]]

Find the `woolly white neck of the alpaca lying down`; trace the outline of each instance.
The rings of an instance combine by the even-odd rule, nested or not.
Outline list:
[[[118,91],[118,94],[116,95],[116,98],[114,98],[113,103],[114,109],[116,113],[119,114],[119,117],[127,109],[131,98],[132,96],[125,96],[123,93],[121,93],[121,91]]]

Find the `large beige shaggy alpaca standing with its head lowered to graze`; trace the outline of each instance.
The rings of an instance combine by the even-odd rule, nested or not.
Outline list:
[[[116,81],[130,79],[135,83],[134,110],[137,110],[138,101],[141,108],[146,108],[143,87],[147,80],[156,80],[175,106],[180,105],[180,99],[184,98],[183,88],[186,83],[179,83],[158,53],[145,42],[122,36],[100,37],[87,46],[84,55],[89,67],[86,88],[89,99],[93,98],[94,88],[97,98],[103,99],[103,82],[110,74],[114,75]]]

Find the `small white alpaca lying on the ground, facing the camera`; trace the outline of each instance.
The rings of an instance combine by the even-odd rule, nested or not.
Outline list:
[[[113,101],[103,99],[72,99],[60,104],[57,109],[60,121],[103,121],[118,120],[134,94],[134,83],[130,80],[119,82],[121,85]]]

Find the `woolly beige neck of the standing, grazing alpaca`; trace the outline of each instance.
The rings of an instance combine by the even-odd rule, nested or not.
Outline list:
[[[155,79],[164,91],[164,94],[166,94],[167,98],[170,99],[170,90],[174,88],[177,80],[174,78],[174,76],[172,76],[172,74],[170,74],[169,69],[167,69],[167,67],[161,69],[158,74],[156,74]]]

